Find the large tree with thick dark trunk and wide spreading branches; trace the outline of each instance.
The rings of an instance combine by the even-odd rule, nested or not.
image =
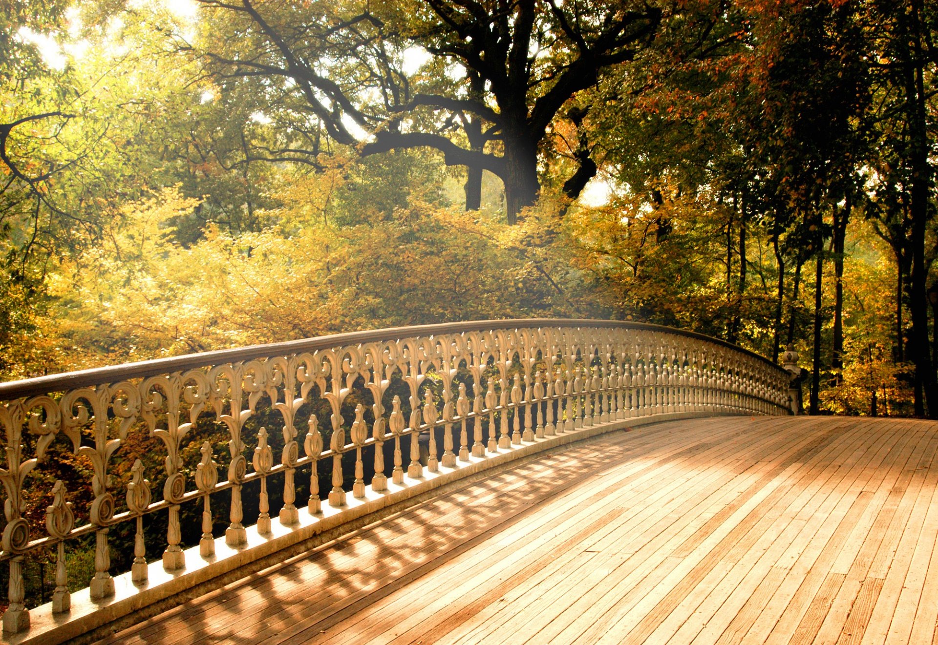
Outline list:
[[[211,26],[184,48],[219,84],[265,79],[273,118],[289,123],[274,157],[315,158],[320,131],[363,157],[429,147],[469,169],[470,184],[482,170],[500,177],[510,222],[537,199],[539,146],[555,116],[632,60],[662,20],[629,1],[202,2]],[[428,73],[405,73],[413,47],[432,54]],[[476,190],[467,186],[469,205]]]

